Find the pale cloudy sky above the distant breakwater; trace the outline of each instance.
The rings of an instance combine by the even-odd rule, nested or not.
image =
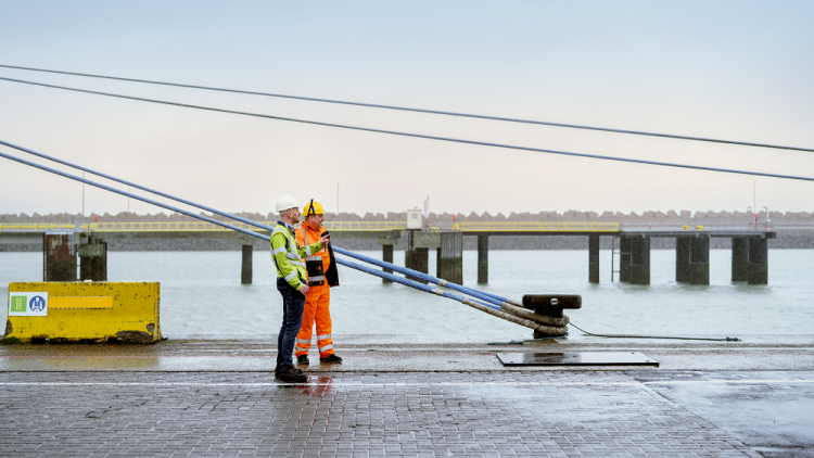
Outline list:
[[[0,2],[0,64],[814,149],[810,1]],[[814,177],[814,153],[0,68],[374,129]],[[0,80],[0,140],[226,212],[814,212],[814,182],[352,131]],[[17,150],[0,152],[77,174]],[[79,173],[81,175],[81,173]],[[120,185],[88,176],[107,186]],[[166,212],[0,157],[0,214]],[[144,194],[141,193],[143,195]],[[150,196],[153,198],[153,196]],[[168,202],[163,199],[157,199]],[[180,205],[198,213],[198,209]]]

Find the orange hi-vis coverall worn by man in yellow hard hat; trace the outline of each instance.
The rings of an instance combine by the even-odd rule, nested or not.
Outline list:
[[[303,233],[305,229],[305,233]],[[302,226],[296,228],[296,241],[301,246],[306,246],[303,243],[314,243],[321,239],[326,228],[320,227],[319,232],[315,231],[307,224],[303,222]],[[307,237],[306,237],[307,236]],[[331,265],[331,257],[328,253],[328,249],[322,249],[313,256],[322,257],[322,271],[327,271]],[[306,257],[304,260],[308,260]],[[309,281],[310,283],[310,281]],[[331,339],[331,313],[329,305],[331,302],[331,287],[328,285],[328,280],[322,279],[321,285],[313,285],[308,288],[308,293],[305,295],[305,308],[303,310],[303,326],[300,328],[300,333],[296,335],[296,347],[294,354],[300,355],[308,354],[310,349],[310,338],[314,329],[314,321],[317,322],[317,347],[319,347],[319,357],[326,358],[333,355],[333,339]]]

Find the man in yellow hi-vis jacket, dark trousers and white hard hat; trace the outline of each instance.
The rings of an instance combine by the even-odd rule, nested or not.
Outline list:
[[[308,293],[303,257],[322,250],[328,244],[328,237],[317,238],[311,244],[301,246],[294,236],[294,225],[300,222],[300,205],[294,198],[283,195],[277,200],[275,209],[279,213],[280,220],[271,231],[271,259],[277,267],[277,291],[282,295],[282,327],[277,336],[275,377],[281,382],[302,383],[308,377],[294,367],[292,353],[296,334],[302,327],[303,306]]]

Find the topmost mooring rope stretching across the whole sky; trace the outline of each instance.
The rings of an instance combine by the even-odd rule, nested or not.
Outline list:
[[[550,123],[550,122],[543,122],[543,120],[519,119],[519,118],[500,117],[500,116],[486,116],[486,115],[476,115],[476,114],[471,114],[471,113],[444,112],[444,111],[437,111],[437,110],[412,109],[412,107],[406,107],[406,106],[381,105],[381,104],[376,104],[376,103],[349,102],[349,101],[332,100],[332,99],[318,99],[318,98],[313,98],[313,97],[289,96],[289,94],[247,91],[247,90],[228,89],[228,88],[214,88],[214,87],[208,87],[208,86],[183,85],[179,82],[153,81],[149,79],[136,79],[136,78],[124,78],[124,77],[116,77],[116,76],[92,75],[92,74],[86,74],[86,73],[21,67],[21,66],[14,66],[14,65],[0,65],[0,67],[23,69],[23,71],[29,71],[29,72],[42,72],[42,73],[54,73],[54,74],[61,74],[61,75],[82,76],[82,77],[89,77],[89,78],[115,79],[119,81],[144,82],[149,85],[173,86],[173,87],[188,88],[188,89],[203,89],[203,90],[209,90],[209,91],[232,92],[232,93],[242,93],[242,94],[249,94],[249,96],[265,96],[265,97],[275,97],[279,99],[304,100],[308,102],[322,102],[322,103],[335,103],[335,104],[342,104],[342,105],[366,106],[370,109],[396,110],[396,111],[404,111],[404,112],[427,113],[427,114],[436,114],[436,115],[444,115],[444,116],[470,117],[470,118],[476,118],[476,119],[501,120],[501,122],[507,122],[507,123],[534,124],[534,125],[539,125],[539,126],[564,127],[569,129],[598,130],[598,131],[613,132],[613,133],[628,133],[628,135],[636,135],[636,136],[671,138],[671,139],[676,139],[676,140],[690,140],[690,141],[704,141],[704,142],[712,142],[712,143],[737,144],[740,147],[773,148],[773,149],[779,149],[779,150],[814,152],[814,149],[798,148],[798,147],[784,147],[784,145],[767,144],[767,143],[753,143],[753,142],[746,142],[746,141],[722,140],[722,139],[712,139],[712,138],[703,138],[703,137],[678,136],[678,135],[672,135],[672,133],[645,132],[645,131],[638,131],[638,130],[611,129],[608,127],[581,126],[576,124]]]

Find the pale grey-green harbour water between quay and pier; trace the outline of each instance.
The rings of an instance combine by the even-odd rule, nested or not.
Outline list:
[[[381,252],[363,252],[381,258]],[[463,252],[463,282],[476,287],[478,253]],[[491,251],[489,284],[523,294],[581,294],[583,308],[567,310],[596,333],[805,334],[814,332],[814,250],[770,251],[767,285],[730,282],[729,250],[710,252],[710,285],[678,284],[675,251],[651,252],[649,287],[610,282],[611,252],[600,252],[600,284],[588,283],[587,251]],[[394,254],[404,265],[404,252]],[[434,256],[430,272],[435,271]],[[616,259],[619,262],[619,259]],[[268,253],[254,255],[254,284],[240,284],[240,252],[113,252],[111,281],[158,281],[165,334],[269,334],[281,320],[281,300]],[[8,283],[39,281],[41,253],[0,253],[0,293]],[[340,266],[331,290],[335,334],[500,334],[531,330],[458,302]],[[8,306],[4,308],[8,310]],[[5,315],[5,311],[2,311]],[[572,329],[572,332],[575,330]]]

